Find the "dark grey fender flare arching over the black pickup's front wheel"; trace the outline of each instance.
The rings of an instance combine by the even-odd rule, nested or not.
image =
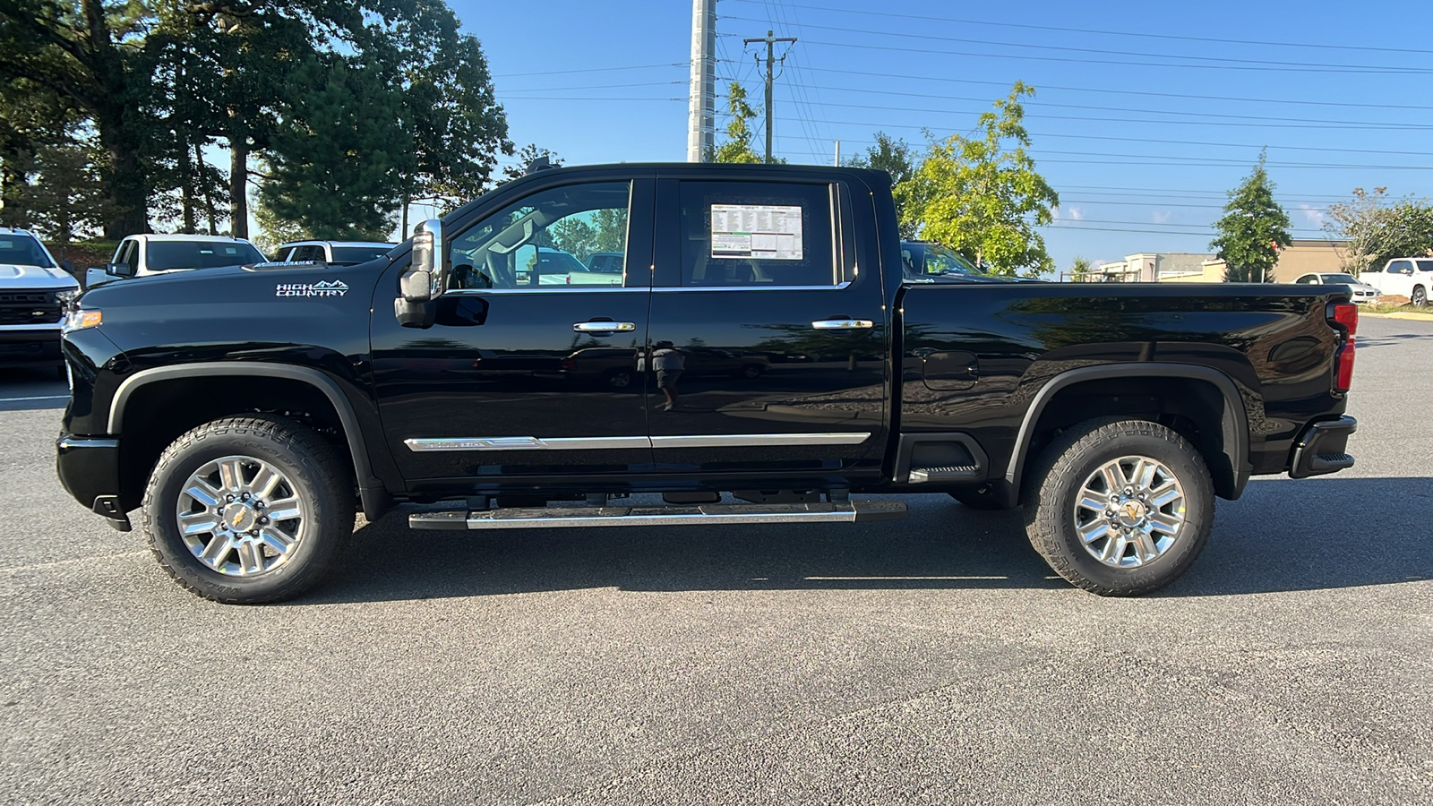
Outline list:
[[[363,427],[358,425],[358,416],[354,413],[353,403],[350,403],[348,396],[344,394],[338,381],[312,367],[264,361],[199,361],[140,370],[126,377],[119,384],[119,389],[115,390],[115,397],[109,402],[107,433],[122,433],[125,426],[125,406],[140,387],[163,380],[212,376],[279,377],[307,383],[322,392],[328,403],[332,404],[334,412],[338,413],[338,422],[344,427],[344,439],[348,442],[348,453],[353,456],[354,478],[358,480],[358,495],[363,501],[364,516],[368,521],[377,521],[393,505],[393,499],[384,488],[383,480],[373,473],[373,466],[368,462],[368,445],[364,439]]]

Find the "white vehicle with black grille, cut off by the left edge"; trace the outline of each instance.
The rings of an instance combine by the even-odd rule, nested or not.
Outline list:
[[[0,227],[0,367],[52,364],[63,373],[60,320],[79,291],[33,232]]]

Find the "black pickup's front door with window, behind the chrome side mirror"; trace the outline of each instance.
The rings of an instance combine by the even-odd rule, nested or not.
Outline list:
[[[552,174],[444,222],[453,268],[433,327],[387,314],[406,261],[380,283],[374,389],[410,480],[492,486],[649,469],[635,366],[648,330],[652,175]],[[623,254],[626,271],[545,274],[537,260],[596,251]]]

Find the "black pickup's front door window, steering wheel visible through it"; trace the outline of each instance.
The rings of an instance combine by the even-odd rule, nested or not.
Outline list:
[[[602,252],[625,264],[631,196],[631,182],[593,182],[507,205],[451,238],[449,288],[622,287],[622,271],[595,270],[589,260]]]

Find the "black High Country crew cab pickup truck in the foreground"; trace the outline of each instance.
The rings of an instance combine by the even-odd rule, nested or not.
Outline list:
[[[103,285],[64,326],[59,475],[179,584],[265,602],[396,502],[450,503],[416,529],[906,513],[861,493],[1023,506],[1055,571],[1135,595],[1215,496],[1353,465],[1344,287],[913,283],[900,250],[881,172],[612,165],[358,265]],[[599,353],[628,383],[569,371]]]

